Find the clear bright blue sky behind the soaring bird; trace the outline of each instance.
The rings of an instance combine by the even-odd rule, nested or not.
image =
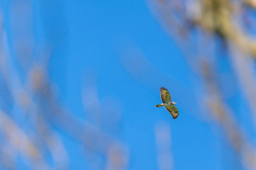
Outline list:
[[[2,2],[11,48],[15,31],[19,33],[12,18],[17,2]],[[58,100],[81,119],[88,118],[83,106],[88,85],[95,85],[103,105],[117,103],[120,124],[111,133],[129,150],[128,169],[157,169],[154,128],[159,121],[171,129],[174,169],[240,169],[220,129],[193,105],[195,92],[200,93],[195,89],[198,82],[192,81],[184,53],[164,32],[147,1],[29,2],[33,31],[26,34],[35,37],[33,53],[52,50],[48,70]],[[22,16],[26,20],[26,13]],[[176,120],[164,108],[154,107],[161,103],[161,86],[177,103]],[[62,132],[61,138],[70,168],[90,169],[77,142]]]

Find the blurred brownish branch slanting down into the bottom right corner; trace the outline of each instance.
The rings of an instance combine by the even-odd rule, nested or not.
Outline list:
[[[243,159],[244,165],[248,169],[255,169],[256,162],[251,160],[256,160],[256,150],[253,148],[252,143],[246,139],[244,133],[239,128],[239,125],[235,121],[234,113],[225,104],[225,101],[221,99],[221,94],[216,87],[216,81],[211,71],[211,67],[207,62],[202,62],[203,73],[205,85],[207,87],[207,92],[209,94],[209,99],[207,104],[209,104],[209,109],[211,110],[212,117],[220,124],[221,129],[225,133],[228,141],[234,147],[238,155]]]

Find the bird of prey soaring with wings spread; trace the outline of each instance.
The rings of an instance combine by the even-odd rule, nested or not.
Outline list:
[[[172,102],[170,93],[164,87],[160,88],[160,92],[161,92],[161,99],[162,99],[163,103],[162,104],[156,104],[156,107],[158,108],[158,107],[164,106],[164,108],[171,113],[173,119],[177,118],[178,115],[179,115],[179,111],[174,106],[177,103]]]

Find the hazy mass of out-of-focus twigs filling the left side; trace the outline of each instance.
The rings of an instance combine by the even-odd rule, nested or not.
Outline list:
[[[90,169],[127,169],[127,147],[113,135],[121,111],[111,110],[118,108],[114,106],[115,99],[104,101],[108,106],[100,104],[95,76],[86,80],[83,90],[86,120],[77,118],[57,100],[58,88],[49,78],[51,50],[33,52],[31,5],[29,1],[12,3],[12,10],[19,10],[22,15],[12,13],[15,37],[11,45],[2,27],[5,18],[0,13],[0,169],[20,168],[20,162],[25,162],[29,169],[72,168],[72,155],[68,154],[61,134],[81,146]],[[54,46],[47,43],[46,46]],[[111,120],[100,118],[104,112],[109,112]],[[113,128],[103,131],[104,125]]]

